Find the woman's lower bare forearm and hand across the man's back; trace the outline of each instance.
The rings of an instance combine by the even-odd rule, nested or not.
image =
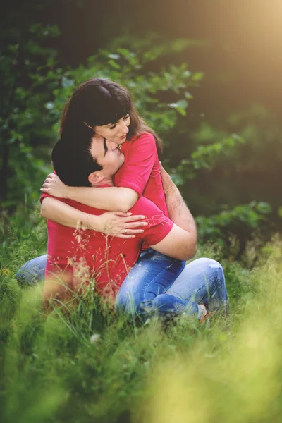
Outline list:
[[[41,216],[69,228],[81,226],[82,228],[125,239],[134,238],[135,234],[142,233],[143,230],[140,228],[147,224],[139,222],[139,220],[145,219],[145,216],[130,216],[130,214],[123,212],[106,212],[95,216],[94,214],[81,212],[52,197],[43,198]]]

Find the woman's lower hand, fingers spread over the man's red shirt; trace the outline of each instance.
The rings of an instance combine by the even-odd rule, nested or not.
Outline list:
[[[147,226],[148,222],[141,221],[145,216],[135,215],[123,212],[106,212],[99,216],[99,228],[97,221],[92,225],[92,214],[88,216],[87,228],[102,232],[106,235],[116,236],[117,238],[135,238],[135,235],[144,232],[142,226]],[[97,216],[95,216],[97,218]],[[137,229],[138,228],[138,229]]]

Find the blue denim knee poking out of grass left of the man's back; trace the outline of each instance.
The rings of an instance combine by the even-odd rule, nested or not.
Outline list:
[[[45,278],[47,254],[35,257],[23,264],[16,274],[16,280],[20,285],[35,285]]]

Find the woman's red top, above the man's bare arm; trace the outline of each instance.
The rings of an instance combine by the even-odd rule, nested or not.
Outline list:
[[[132,188],[138,195],[144,195],[169,217],[154,136],[150,133],[136,135],[123,142],[121,152],[125,154],[125,161],[114,176],[115,185]]]

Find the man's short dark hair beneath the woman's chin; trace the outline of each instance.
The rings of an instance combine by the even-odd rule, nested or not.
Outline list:
[[[91,142],[84,145],[59,140],[51,154],[54,171],[59,178],[71,187],[91,186],[88,176],[92,172],[101,171],[97,161],[90,152]]]

